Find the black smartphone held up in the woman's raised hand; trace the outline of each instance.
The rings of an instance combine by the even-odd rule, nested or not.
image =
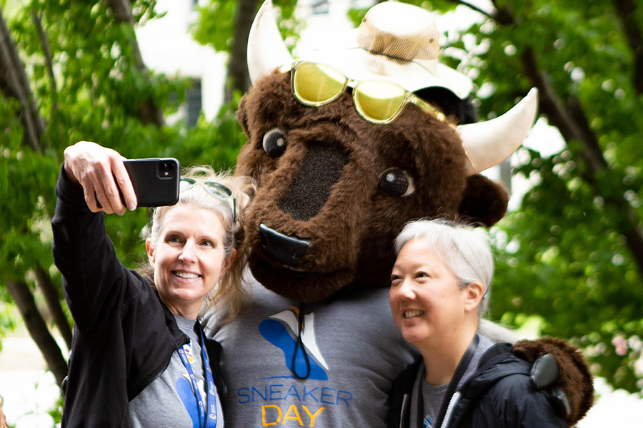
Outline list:
[[[174,158],[128,159],[124,164],[139,207],[174,205],[179,201],[179,161]]]

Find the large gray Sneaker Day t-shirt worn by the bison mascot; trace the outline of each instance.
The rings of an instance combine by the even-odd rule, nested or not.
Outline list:
[[[393,322],[389,289],[346,292],[301,307],[254,280],[252,303],[229,324],[204,320],[224,352],[226,424],[343,428],[386,426],[393,380],[419,354]],[[293,370],[294,367],[294,370]],[[297,379],[294,372],[307,379]]]

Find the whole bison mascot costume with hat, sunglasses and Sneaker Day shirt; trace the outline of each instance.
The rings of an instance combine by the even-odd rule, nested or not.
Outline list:
[[[236,173],[258,185],[245,230],[250,297],[231,322],[207,315],[224,347],[227,426],[385,426],[392,381],[417,357],[389,309],[394,237],[417,218],[500,220],[507,192],[479,172],[519,147],[536,114],[532,91],[472,123],[472,84],[438,54],[434,16],[387,1],[347,46],[294,61],[270,0],[261,6],[254,87],[238,112],[248,142]],[[569,421],[579,419],[592,400],[582,357],[556,340],[520,349],[556,356],[561,374],[547,387],[562,387]]]

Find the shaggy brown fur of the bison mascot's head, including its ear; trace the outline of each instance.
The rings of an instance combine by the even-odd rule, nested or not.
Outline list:
[[[249,141],[237,173],[259,185],[246,230],[250,267],[270,290],[307,302],[352,283],[388,286],[392,241],[407,221],[458,217],[490,226],[504,215],[507,192],[482,176],[465,176],[466,158],[454,126],[410,104],[393,123],[374,125],[358,116],[349,93],[326,106],[304,106],[292,96],[289,76],[274,72],[262,78],[241,100],[238,113]],[[262,149],[264,134],[273,128],[281,129],[288,144],[280,158]],[[319,144],[342,149],[348,163],[319,213],[294,220],[279,202],[308,148]],[[388,168],[404,170],[416,191],[400,197],[378,188],[379,175]],[[262,251],[260,223],[311,241],[299,265],[284,265]]]

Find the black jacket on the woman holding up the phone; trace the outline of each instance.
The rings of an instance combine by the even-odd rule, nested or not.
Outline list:
[[[54,261],[75,322],[62,426],[126,427],[126,404],[189,339],[149,282],[119,263],[103,214],[91,213],[62,168],[56,195]],[[223,394],[221,345],[206,339],[205,348]]]

